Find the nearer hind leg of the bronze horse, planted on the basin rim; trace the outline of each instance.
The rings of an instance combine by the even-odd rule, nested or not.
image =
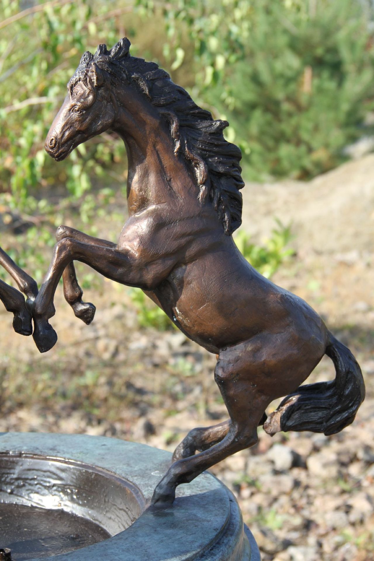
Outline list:
[[[250,356],[243,355],[243,343],[220,352],[214,374],[230,415],[229,430],[218,444],[173,463],[156,486],[152,504],[172,504],[178,485],[192,481],[215,463],[256,444],[257,426],[272,398],[258,391],[254,383],[258,369],[254,368],[252,377],[251,362]]]

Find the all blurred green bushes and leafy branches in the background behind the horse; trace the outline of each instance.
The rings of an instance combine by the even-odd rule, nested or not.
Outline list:
[[[4,249],[40,282],[60,223],[73,219],[95,235],[108,214],[116,228],[124,221],[126,153],[116,135],[92,139],[59,164],[43,149],[85,50],[128,36],[133,55],[158,62],[228,119],[244,178],[309,179],[372,132],[372,24],[370,0],[1,0],[0,216],[20,236]],[[267,277],[289,255],[281,224],[265,246],[241,236],[238,245]],[[86,274],[83,286],[93,278]],[[141,298],[133,296],[138,307]]]

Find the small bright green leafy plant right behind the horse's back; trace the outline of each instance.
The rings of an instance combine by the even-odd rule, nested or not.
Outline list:
[[[276,223],[278,227],[273,228],[271,237],[263,246],[251,243],[249,234],[244,230],[234,236],[238,249],[247,261],[266,278],[273,276],[279,266],[295,253],[286,247],[292,239],[290,226],[283,226],[278,219]]]

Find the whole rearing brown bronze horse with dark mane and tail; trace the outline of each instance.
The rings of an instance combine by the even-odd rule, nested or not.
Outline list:
[[[132,57],[122,39],[86,52],[45,142],[62,160],[108,129],[128,158],[130,218],[118,242],[61,226],[34,307],[41,352],[56,343],[58,280],[73,260],[119,283],[142,288],[188,337],[218,355],[215,380],[230,420],[189,433],[156,486],[153,504],[171,504],[177,485],[194,479],[267,433],[311,430],[334,434],[349,425],[364,398],[352,353],[301,298],[262,277],[237,249],[241,224],[241,152],[167,72]],[[336,379],[300,387],[322,356]],[[288,396],[266,420],[271,401]],[[195,454],[196,450],[202,450]]]

